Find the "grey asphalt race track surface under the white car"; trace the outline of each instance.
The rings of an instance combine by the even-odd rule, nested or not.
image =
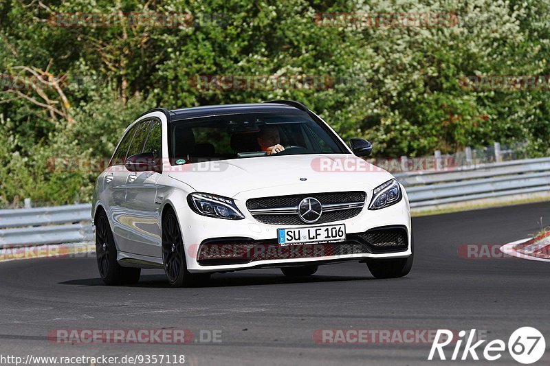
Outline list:
[[[307,279],[278,270],[215,274],[207,287],[168,288],[159,271],[136,286],[103,286],[93,258],[0,263],[0,354],[185,354],[187,365],[441,365],[430,344],[318,344],[316,330],[470,330],[507,341],[538,328],[550,364],[550,265],[465,259],[461,244],[505,244],[550,223],[550,203],[413,219],[408,277],[374,279],[365,264],[322,266]],[[58,344],[56,329],[221,330],[221,343]],[[449,351],[448,356],[452,349]],[[476,364],[445,361],[448,364]],[[120,364],[120,363],[119,363]],[[519,365],[505,353],[493,365]]]

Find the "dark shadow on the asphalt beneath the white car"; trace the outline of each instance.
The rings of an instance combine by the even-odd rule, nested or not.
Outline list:
[[[318,282],[345,282],[345,281],[364,281],[375,279],[367,276],[334,276],[334,275],[311,275],[305,277],[286,277],[285,275],[258,274],[258,273],[215,273],[210,281],[204,284],[197,284],[194,288],[208,287],[232,287],[232,286],[262,286],[276,284],[305,284]],[[98,278],[71,279],[69,281],[58,282],[63,285],[73,286],[105,286],[102,280]],[[116,287],[145,287],[145,288],[169,288],[164,275],[142,275],[140,282],[132,285],[120,285]]]

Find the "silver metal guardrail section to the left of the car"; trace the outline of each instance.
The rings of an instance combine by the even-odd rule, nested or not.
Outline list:
[[[94,240],[91,205],[0,209],[0,248]]]

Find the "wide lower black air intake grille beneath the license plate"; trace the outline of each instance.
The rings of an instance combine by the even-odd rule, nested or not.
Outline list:
[[[364,233],[349,233],[345,242],[279,245],[276,239],[218,238],[205,240],[197,253],[201,266],[246,264],[262,260],[326,258],[335,255],[393,253],[408,248],[402,226],[377,227]]]

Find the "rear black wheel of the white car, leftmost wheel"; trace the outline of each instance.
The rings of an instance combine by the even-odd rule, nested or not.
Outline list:
[[[99,274],[107,285],[135,284],[140,280],[141,268],[122,267],[116,260],[117,251],[107,215],[101,212],[96,220],[96,258]]]

